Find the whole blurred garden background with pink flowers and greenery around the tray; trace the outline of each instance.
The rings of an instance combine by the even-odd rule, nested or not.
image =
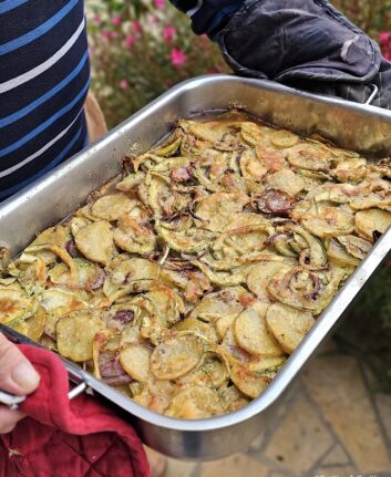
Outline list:
[[[332,3],[379,42],[391,60],[391,0]],[[86,0],[92,90],[109,128],[174,84],[228,72],[218,48],[196,37],[168,0]],[[391,261],[381,267],[337,333],[361,357],[374,391],[391,392]]]

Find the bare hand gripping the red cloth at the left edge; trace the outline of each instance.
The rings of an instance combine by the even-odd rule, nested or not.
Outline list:
[[[0,390],[17,395],[30,394],[39,382],[40,376],[30,362],[0,333]],[[0,405],[0,434],[10,433],[23,417],[21,411]]]

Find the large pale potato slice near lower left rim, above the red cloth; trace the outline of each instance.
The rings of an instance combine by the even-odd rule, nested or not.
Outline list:
[[[59,353],[76,363],[91,360],[94,336],[104,329],[99,313],[88,310],[68,313],[56,324]]]

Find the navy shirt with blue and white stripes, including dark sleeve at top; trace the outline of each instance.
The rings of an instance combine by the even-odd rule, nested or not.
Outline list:
[[[172,0],[210,37],[243,0]],[[88,143],[83,0],[0,0],[0,200]]]

